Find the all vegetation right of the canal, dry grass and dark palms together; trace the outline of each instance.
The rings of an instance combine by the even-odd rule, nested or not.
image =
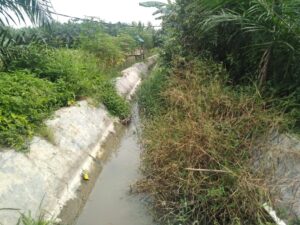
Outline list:
[[[163,18],[143,84],[140,191],[162,224],[273,224],[258,141],[299,131],[299,1],[146,2]]]

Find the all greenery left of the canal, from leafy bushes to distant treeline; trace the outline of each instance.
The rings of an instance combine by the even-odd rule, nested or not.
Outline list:
[[[152,37],[151,29],[96,21],[10,29],[0,51],[0,145],[27,149],[55,110],[87,97],[114,116],[128,117],[129,105],[116,93],[113,79],[140,47],[136,35]],[[147,44],[153,47],[152,40]]]

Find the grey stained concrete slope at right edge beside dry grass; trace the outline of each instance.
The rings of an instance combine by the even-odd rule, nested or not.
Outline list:
[[[279,216],[287,224],[300,221],[300,139],[276,134],[256,152],[254,166],[266,178]]]

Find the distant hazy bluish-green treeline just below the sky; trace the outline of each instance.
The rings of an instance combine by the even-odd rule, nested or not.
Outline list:
[[[44,43],[54,48],[75,48],[78,49],[82,41],[94,38],[98,35],[106,34],[112,39],[114,37],[120,38],[120,41],[126,40],[127,47],[136,47],[138,42],[136,36],[139,35],[146,40],[146,46],[152,48],[151,39],[156,34],[155,29],[151,26],[144,26],[142,24],[133,23],[128,24],[109,24],[103,21],[69,21],[68,23],[52,22],[48,27],[38,28],[21,28],[10,29],[9,35],[12,39],[13,45]],[[107,37],[104,37],[107,38]],[[16,40],[18,39],[18,40]],[[19,40],[20,39],[20,40]],[[149,41],[149,42],[147,42]],[[125,43],[115,41],[119,46]],[[134,42],[134,43],[133,43]],[[84,43],[83,43],[84,44]],[[147,47],[148,48],[148,47]],[[122,48],[122,50],[126,50]]]

